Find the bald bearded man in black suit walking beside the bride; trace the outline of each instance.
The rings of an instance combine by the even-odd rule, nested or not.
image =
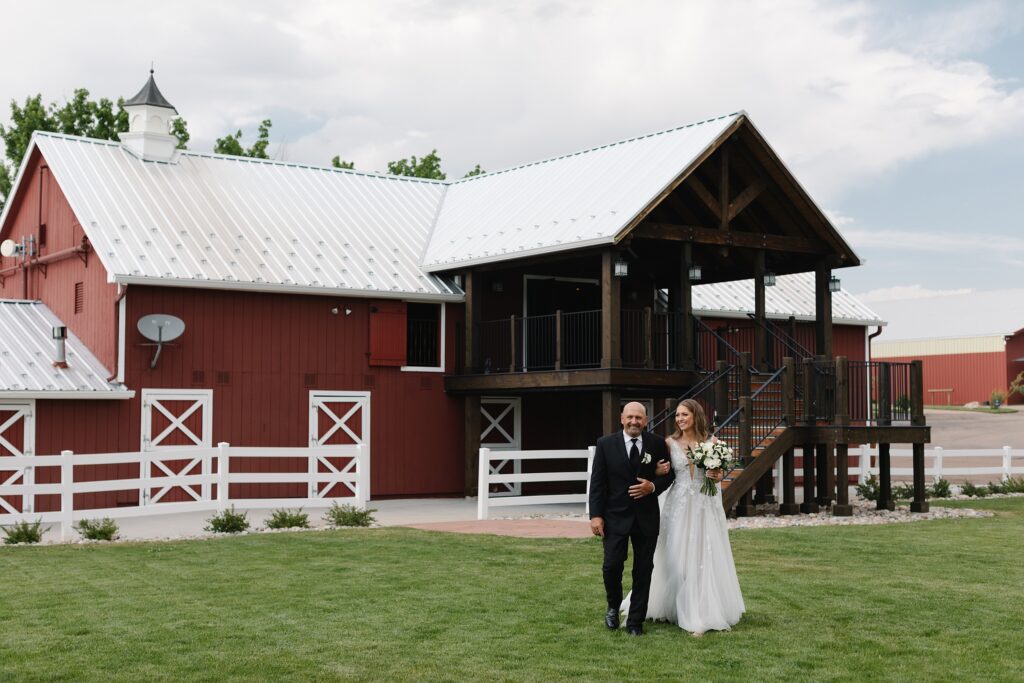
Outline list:
[[[604,539],[604,592],[608,611],[604,624],[618,628],[618,607],[623,601],[623,568],[633,543],[633,595],[626,628],[630,635],[643,635],[654,568],[654,547],[660,511],[657,496],[672,483],[672,471],[656,476],[657,463],[669,460],[665,439],[645,433],[647,410],[631,402],[620,418],[623,431],[597,441],[590,477],[590,528]]]

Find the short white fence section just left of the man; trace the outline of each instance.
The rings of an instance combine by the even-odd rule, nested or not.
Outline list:
[[[492,495],[492,484],[509,483],[548,483],[553,481],[586,481],[587,488],[590,488],[590,471],[594,466],[594,446],[582,451],[492,451],[490,449],[480,449],[479,477],[477,481],[477,504],[476,518],[487,519],[490,508],[508,507],[517,505],[539,505],[551,503],[583,503],[585,509],[587,505],[587,493],[583,494],[557,494],[557,495],[536,495],[536,496],[509,496],[508,493]],[[523,461],[538,460],[566,460],[579,463],[586,460],[587,469],[580,469],[559,472],[527,472],[527,473],[502,473],[501,467],[495,467],[494,463],[513,465]]]

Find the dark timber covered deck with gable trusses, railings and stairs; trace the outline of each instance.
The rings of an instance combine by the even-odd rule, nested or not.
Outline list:
[[[624,400],[641,397],[654,407],[649,428],[667,433],[676,402],[693,397],[742,457],[723,496],[736,514],[774,502],[779,459],[782,514],[823,505],[852,514],[843,482],[849,446],[858,443],[880,444],[879,505],[890,509],[889,445],[912,444],[911,509],[927,511],[921,364],[833,352],[834,272],[859,263],[739,115],[611,244],[453,269],[465,290],[465,323],[459,365],[444,386],[465,399],[467,493],[476,482],[484,397],[526,401],[535,449],[569,447],[559,441],[566,436],[592,442],[618,428]],[[797,272],[814,273],[813,348],[765,314],[774,275]],[[737,347],[693,315],[692,288],[752,278],[754,334]]]

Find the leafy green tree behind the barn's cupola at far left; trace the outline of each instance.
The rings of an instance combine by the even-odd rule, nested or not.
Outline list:
[[[43,96],[26,97],[25,104],[10,102],[9,127],[0,124],[0,139],[3,139],[5,154],[10,164],[0,162],[0,209],[10,194],[13,175],[22,165],[22,159],[29,150],[32,134],[37,130],[66,135],[81,135],[101,140],[116,140],[118,133],[128,130],[128,113],[124,110],[124,98],[112,102],[105,97],[98,101],[89,99],[89,91],[76,88],[72,98],[63,104],[50,102],[43,104]],[[178,138],[178,150],[186,150],[188,125],[180,117],[171,121],[171,134]]]

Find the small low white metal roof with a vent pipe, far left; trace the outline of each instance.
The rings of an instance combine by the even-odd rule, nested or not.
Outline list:
[[[0,398],[131,398],[69,331],[68,368],[53,367],[52,328],[63,325],[41,301],[0,299]]]

